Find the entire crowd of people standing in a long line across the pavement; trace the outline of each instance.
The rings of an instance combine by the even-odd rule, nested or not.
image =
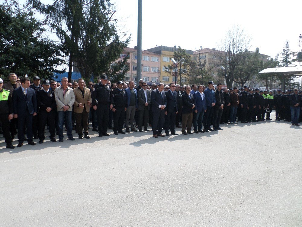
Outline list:
[[[63,142],[64,130],[69,140],[75,140],[72,130],[79,139],[89,139],[90,121],[98,137],[109,136],[107,131],[111,129],[115,135],[152,130],[157,138],[177,136],[175,128],[188,135],[223,130],[220,125],[225,123],[272,120],[275,107],[275,120],[299,126],[302,116],[299,93],[296,88],[293,93],[279,89],[275,95],[272,90],[247,86],[228,90],[222,84],[215,88],[213,81],[207,86],[174,83],[149,86],[143,80],[138,86],[134,81],[111,84],[106,75],[97,84],[89,82],[87,86],[82,78],[70,83],[66,77],[61,83],[44,80],[42,85],[40,78],[34,77],[31,85],[29,78],[11,73],[7,83],[0,78],[0,121],[6,147],[11,149],[15,148],[12,145],[15,135],[18,147],[26,140],[30,145],[36,145],[34,139],[43,143],[46,126],[52,142],[56,142],[56,135]]]

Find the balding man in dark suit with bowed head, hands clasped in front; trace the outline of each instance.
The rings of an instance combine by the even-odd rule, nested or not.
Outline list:
[[[164,84],[158,84],[157,89],[151,92],[151,103],[152,103],[152,113],[153,113],[153,137],[158,136],[164,137],[162,134],[162,126],[164,124],[165,117],[165,107],[167,105],[167,97],[165,96]]]

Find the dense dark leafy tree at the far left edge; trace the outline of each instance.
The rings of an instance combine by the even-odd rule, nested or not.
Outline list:
[[[51,78],[64,63],[60,47],[43,38],[45,29],[30,8],[7,2],[0,5],[0,74]]]

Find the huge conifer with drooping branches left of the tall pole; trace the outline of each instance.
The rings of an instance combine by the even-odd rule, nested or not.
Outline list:
[[[46,16],[47,25],[61,40],[69,57],[69,79],[73,66],[86,80],[102,74],[124,78],[128,58],[118,59],[130,37],[121,41],[113,19],[116,11],[109,0],[55,0],[52,5],[28,2]]]

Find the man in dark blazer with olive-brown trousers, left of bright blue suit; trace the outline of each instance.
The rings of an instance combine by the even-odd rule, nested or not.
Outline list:
[[[182,134],[184,135],[193,134],[191,133],[191,127],[195,105],[194,97],[190,92],[191,87],[186,86],[185,93],[182,95]]]

